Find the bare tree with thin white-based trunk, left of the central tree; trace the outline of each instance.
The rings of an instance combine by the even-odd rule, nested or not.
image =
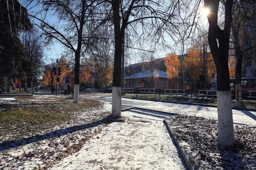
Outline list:
[[[59,42],[74,56],[74,103],[79,102],[79,68],[81,49],[87,48],[89,39],[93,38],[94,25],[100,13],[94,13],[98,3],[97,0],[44,0],[39,3],[42,10],[30,15],[41,24],[36,24],[42,29],[42,36],[48,44]],[[58,17],[57,23],[50,23],[47,15],[51,12]],[[42,17],[38,17],[42,16]]]

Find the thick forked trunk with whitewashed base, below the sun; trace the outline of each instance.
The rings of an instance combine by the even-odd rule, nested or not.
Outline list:
[[[218,26],[219,0],[204,0],[205,8],[211,9],[207,16],[209,22],[208,42],[217,71],[217,111],[218,111],[218,144],[235,144],[233,113],[230,95],[230,77],[228,69],[228,52],[230,29],[232,23],[233,0],[225,2],[224,30]]]

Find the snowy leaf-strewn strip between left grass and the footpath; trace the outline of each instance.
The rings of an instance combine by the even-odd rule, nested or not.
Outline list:
[[[19,101],[16,101],[19,102]],[[15,101],[9,104],[15,105]],[[7,136],[13,142],[0,143],[0,169],[34,169],[42,168],[56,156],[65,153],[68,147],[77,144],[81,139],[93,134],[104,122],[102,120],[111,112],[111,104],[105,103],[103,107],[88,112],[74,113],[75,119],[62,125],[45,127],[35,136],[26,136],[15,139]],[[0,135],[2,138],[2,136]],[[2,139],[1,139],[2,140]]]

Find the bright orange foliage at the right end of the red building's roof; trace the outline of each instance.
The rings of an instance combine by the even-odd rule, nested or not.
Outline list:
[[[174,79],[179,75],[180,60],[175,53],[168,54],[164,64],[167,67],[166,73],[169,79]]]

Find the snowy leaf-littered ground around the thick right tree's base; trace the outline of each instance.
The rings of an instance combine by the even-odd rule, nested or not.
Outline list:
[[[221,147],[217,142],[216,120],[179,115],[166,121],[195,169],[256,169],[255,126],[234,126],[235,145]]]

